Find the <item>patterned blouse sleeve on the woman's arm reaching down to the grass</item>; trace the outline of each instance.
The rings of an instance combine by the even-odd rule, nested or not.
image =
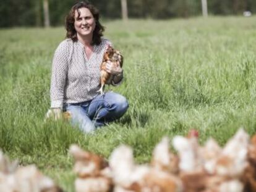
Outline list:
[[[59,44],[53,57],[51,72],[51,108],[62,108],[64,100],[64,88],[66,86],[68,69],[68,44],[63,41]]]

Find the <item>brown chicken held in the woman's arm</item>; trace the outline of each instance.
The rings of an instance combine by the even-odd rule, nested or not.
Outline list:
[[[123,56],[120,51],[117,51],[116,49],[113,49],[111,46],[108,46],[106,49],[106,52],[103,56],[103,62],[100,66],[101,70],[101,79],[100,84],[101,88],[98,90],[101,94],[104,94],[103,89],[104,86],[107,84],[109,85],[114,78],[114,75],[111,73],[106,72],[106,64],[111,63],[117,71],[121,71],[122,63],[123,63]]]

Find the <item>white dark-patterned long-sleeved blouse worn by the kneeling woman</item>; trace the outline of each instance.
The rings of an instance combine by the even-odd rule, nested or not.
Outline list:
[[[79,103],[95,98],[100,89],[100,65],[107,45],[111,43],[102,38],[100,45],[93,46],[90,59],[87,59],[80,41],[66,39],[56,49],[53,57],[51,75],[51,108],[65,103]],[[114,78],[118,85],[122,75]]]

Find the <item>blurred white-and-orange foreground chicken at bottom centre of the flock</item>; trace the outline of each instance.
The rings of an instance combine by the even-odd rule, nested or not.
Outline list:
[[[136,165],[132,149],[119,146],[109,159],[113,171],[114,191],[178,192],[182,191],[181,180],[171,173],[149,165]]]

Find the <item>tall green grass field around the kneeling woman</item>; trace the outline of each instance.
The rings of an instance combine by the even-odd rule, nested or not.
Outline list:
[[[84,135],[66,122],[43,122],[49,108],[54,49],[63,27],[0,30],[0,148],[36,164],[74,191],[70,144],[108,158],[121,143],[137,162],[150,161],[164,135],[200,130],[224,144],[240,127],[256,130],[256,17],[105,22],[106,38],[124,55],[121,120]]]

